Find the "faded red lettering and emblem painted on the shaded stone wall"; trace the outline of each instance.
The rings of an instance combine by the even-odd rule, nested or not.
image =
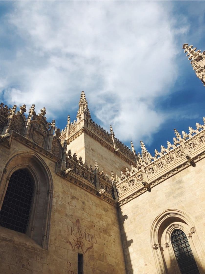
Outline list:
[[[70,239],[67,242],[71,245],[73,251],[77,250],[85,254],[93,248],[93,244],[97,243],[97,239],[94,235],[87,232],[88,228],[86,226],[81,226],[79,219],[75,223],[73,221],[71,223]]]

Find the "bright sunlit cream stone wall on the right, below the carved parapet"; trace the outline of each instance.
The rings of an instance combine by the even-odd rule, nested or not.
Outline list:
[[[172,247],[166,248],[165,242],[162,242],[160,243],[160,251],[153,250],[151,243],[151,228],[154,219],[168,209],[180,210],[192,220],[196,233],[191,235],[189,242],[192,252],[194,253],[194,247],[198,252],[197,258],[199,260],[197,261],[196,257],[195,259],[198,265],[201,262],[200,273],[204,273],[204,188],[205,159],[201,159],[195,166],[189,166],[156,185],[151,189],[151,192],[146,191],[119,207],[122,242],[125,249],[128,274],[165,273],[160,272],[159,264],[156,266],[153,252],[156,252],[156,254],[161,252],[163,258],[168,258],[166,259],[166,273],[178,273],[174,272],[170,256],[166,256],[168,249]],[[176,222],[176,220],[173,219],[173,222]],[[198,243],[196,243],[197,237],[199,239]],[[197,245],[200,247],[197,248]]]

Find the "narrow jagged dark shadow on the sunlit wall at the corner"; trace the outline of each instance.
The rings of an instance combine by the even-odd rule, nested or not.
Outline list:
[[[127,235],[125,233],[125,229],[123,226],[124,221],[128,218],[128,216],[122,215],[122,211],[120,207],[118,207],[117,212],[118,212],[118,218],[119,218],[119,224],[120,224],[120,235],[121,235],[124,259],[125,259],[126,273],[133,274],[132,262],[131,262],[129,249],[128,249],[128,247],[130,247],[131,244],[133,243],[133,239],[127,238]]]

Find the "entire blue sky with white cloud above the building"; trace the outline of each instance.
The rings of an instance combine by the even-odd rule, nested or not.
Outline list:
[[[85,91],[94,121],[139,150],[202,123],[205,88],[183,43],[205,50],[203,1],[1,1],[0,99],[64,128]]]

